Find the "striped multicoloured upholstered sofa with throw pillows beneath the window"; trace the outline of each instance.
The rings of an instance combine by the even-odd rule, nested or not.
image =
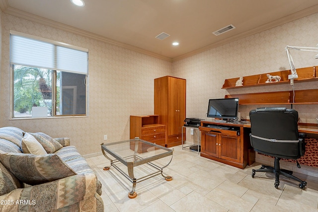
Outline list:
[[[70,139],[0,128],[1,212],[103,212],[100,195],[100,181]]]

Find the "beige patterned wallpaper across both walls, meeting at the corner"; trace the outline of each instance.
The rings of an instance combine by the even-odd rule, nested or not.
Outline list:
[[[291,90],[291,86],[221,89],[226,78],[287,70],[286,45],[315,47],[318,13],[237,40],[173,63],[136,53],[12,15],[2,14],[0,126],[26,132],[70,137],[81,154],[100,152],[107,142],[129,139],[129,116],[153,114],[154,78],[174,75],[187,79],[187,117],[205,118],[208,100],[225,94]],[[9,30],[15,30],[89,49],[89,117],[9,120]],[[296,68],[317,66],[315,53],[293,51]],[[295,89],[318,88],[318,82],[297,83]],[[240,106],[246,118],[252,108]],[[290,105],[286,105],[290,107]],[[302,122],[316,123],[317,105],[296,105]]]

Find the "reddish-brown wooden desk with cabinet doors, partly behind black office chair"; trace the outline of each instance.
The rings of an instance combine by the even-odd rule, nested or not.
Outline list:
[[[208,125],[229,126],[233,130],[208,128]],[[201,156],[223,162],[238,168],[245,168],[255,161],[255,152],[250,145],[250,123],[218,123],[201,121]],[[318,126],[303,124],[298,126],[299,133],[307,138],[305,155],[298,159],[300,164],[318,167]],[[284,159],[285,160],[285,159]],[[295,160],[287,160],[295,162]]]

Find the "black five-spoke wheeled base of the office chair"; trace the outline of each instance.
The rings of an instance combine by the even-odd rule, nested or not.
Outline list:
[[[286,169],[280,169],[279,161],[280,161],[280,158],[275,157],[274,167],[262,165],[259,169],[252,169],[252,178],[254,178],[255,172],[271,172],[271,173],[275,174],[274,186],[276,189],[279,188],[279,175],[284,175],[285,177],[288,177],[288,178],[291,178],[293,180],[300,182],[300,184],[298,184],[299,188],[305,189],[305,186],[307,186],[307,182],[302,181],[298,177],[295,177],[294,175],[292,175],[293,171],[289,171]]]

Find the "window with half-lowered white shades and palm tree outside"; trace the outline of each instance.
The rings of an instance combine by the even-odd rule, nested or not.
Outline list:
[[[88,50],[11,31],[10,65],[13,118],[87,115]]]

